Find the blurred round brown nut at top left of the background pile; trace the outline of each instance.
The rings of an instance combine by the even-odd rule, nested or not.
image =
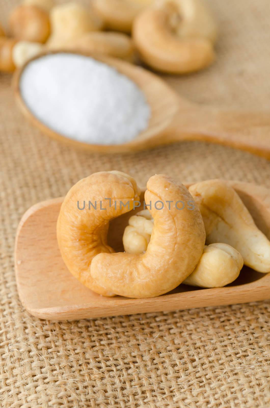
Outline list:
[[[18,40],[44,43],[51,30],[49,15],[40,7],[18,6],[9,16],[9,29]]]

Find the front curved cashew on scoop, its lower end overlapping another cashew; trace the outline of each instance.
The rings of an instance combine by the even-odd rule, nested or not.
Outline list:
[[[144,198],[154,218],[146,253],[100,253],[91,263],[95,282],[117,295],[153,297],[174,289],[194,270],[204,249],[204,224],[197,207],[190,211],[175,205],[191,199],[183,184],[155,175],[147,182]]]

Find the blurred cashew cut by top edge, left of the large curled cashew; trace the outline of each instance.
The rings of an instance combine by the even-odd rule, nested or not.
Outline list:
[[[95,0],[93,5],[106,28],[130,33],[137,14],[153,0]]]

